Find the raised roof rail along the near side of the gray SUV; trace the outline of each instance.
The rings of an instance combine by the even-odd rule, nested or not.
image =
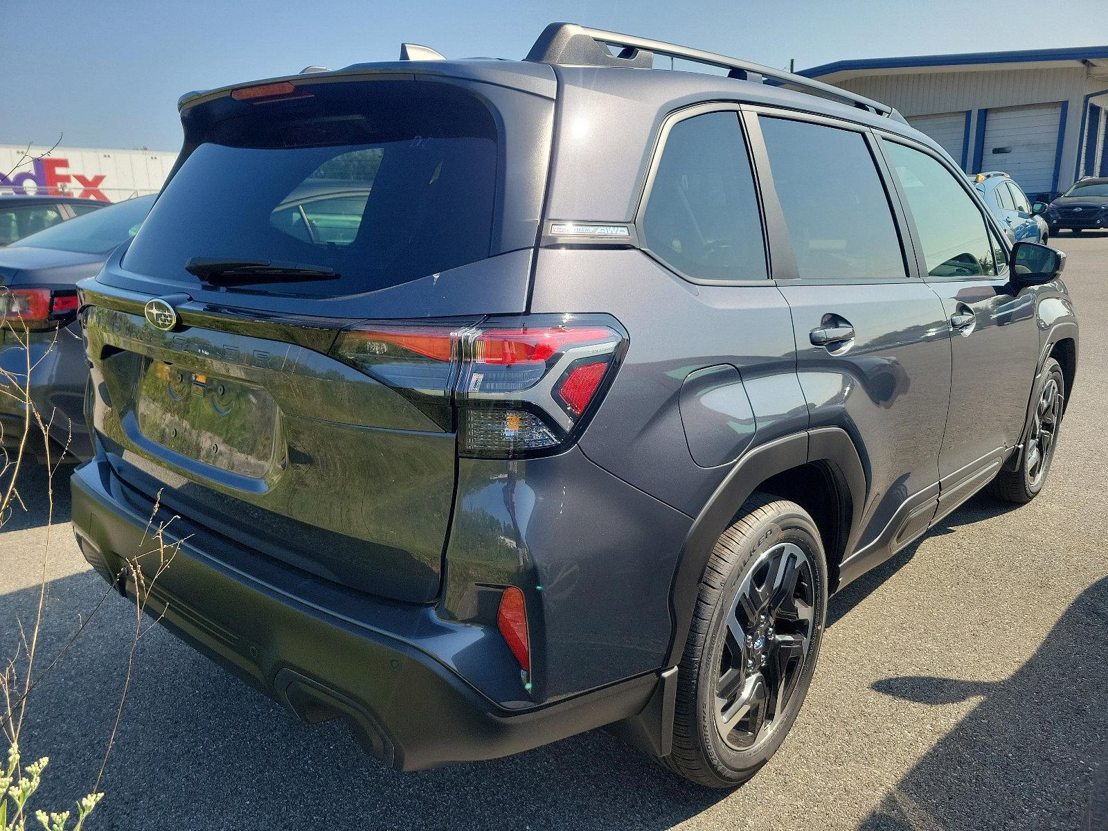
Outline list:
[[[622,47],[618,54],[612,54],[604,44]],[[527,61],[535,63],[563,63],[584,64],[588,66],[634,66],[649,69],[654,65],[654,55],[661,54],[667,58],[677,58],[683,61],[702,63],[708,66],[718,66],[727,70],[728,78],[738,78],[745,81],[765,82],[771,79],[781,84],[797,86],[806,92],[814,92],[835,101],[851,104],[861,110],[869,110],[879,115],[894,117],[903,121],[903,117],[893,107],[882,104],[864,95],[855,95],[848,90],[831,86],[822,81],[813,81],[803,75],[797,75],[784,70],[776,70],[772,66],[763,66],[760,63],[742,61],[738,58],[728,58],[715,52],[705,52],[690,47],[679,47],[675,43],[666,43],[659,40],[647,38],[636,38],[630,34],[619,34],[608,32],[603,29],[588,29],[575,23],[551,23],[527,53]]]

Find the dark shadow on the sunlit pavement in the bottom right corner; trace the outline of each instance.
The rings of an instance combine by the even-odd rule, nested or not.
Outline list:
[[[983,700],[885,794],[861,829],[975,828],[989,815],[995,828],[1084,829],[1090,798],[1096,821],[1108,822],[1100,817],[1108,794],[1095,793],[1092,784],[1097,779],[1096,788],[1105,787],[1095,772],[1108,763],[1106,653],[1108,577],[1074,601],[1006,680],[876,681],[879,693],[933,707]]]

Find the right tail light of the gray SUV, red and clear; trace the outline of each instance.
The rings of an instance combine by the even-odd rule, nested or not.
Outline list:
[[[607,316],[558,315],[367,324],[345,330],[334,353],[441,427],[456,427],[461,455],[517,459],[558,452],[576,438],[626,345]]]

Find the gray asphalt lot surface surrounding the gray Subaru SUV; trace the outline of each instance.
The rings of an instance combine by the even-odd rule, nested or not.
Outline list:
[[[1108,237],[1056,243],[1083,342],[1046,490],[1018,510],[977,496],[835,597],[800,720],[743,788],[686,786],[604,732],[393,773],[154,628],[91,828],[1081,828],[1108,759]],[[66,489],[50,526],[34,479],[0,535],[0,655],[33,614],[48,530],[42,655],[104,597]],[[41,793],[55,809],[95,779],[133,628],[133,607],[107,597],[35,691],[23,743],[54,759]]]

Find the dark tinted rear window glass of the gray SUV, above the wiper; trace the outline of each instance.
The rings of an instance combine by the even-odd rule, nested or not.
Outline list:
[[[234,115],[166,185],[124,267],[195,285],[185,270],[194,257],[295,263],[340,278],[249,290],[336,296],[489,256],[497,133],[483,103],[444,83],[310,89],[223,102]]]

